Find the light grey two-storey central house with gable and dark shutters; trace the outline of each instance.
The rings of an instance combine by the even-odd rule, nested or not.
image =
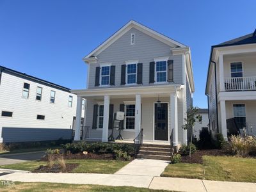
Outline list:
[[[188,46],[131,20],[83,60],[87,89],[72,93],[78,97],[77,116],[87,100],[90,140],[108,141],[113,113],[124,111],[124,140],[132,141],[143,129],[143,141],[187,143],[182,125],[194,92]]]

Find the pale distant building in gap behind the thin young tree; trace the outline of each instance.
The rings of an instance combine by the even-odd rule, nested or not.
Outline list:
[[[208,109],[198,109],[198,114],[202,116],[202,123],[195,123],[194,126],[194,136],[199,140],[199,134],[202,129],[208,129],[209,118],[208,118]]]

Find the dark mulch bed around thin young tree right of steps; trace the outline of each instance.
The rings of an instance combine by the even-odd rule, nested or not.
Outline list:
[[[224,150],[219,149],[211,149],[211,150],[196,150],[195,153],[189,156],[182,156],[181,162],[182,163],[203,163],[203,156],[228,156]]]

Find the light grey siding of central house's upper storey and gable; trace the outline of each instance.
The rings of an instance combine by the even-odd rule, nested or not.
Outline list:
[[[130,43],[131,33],[135,34],[134,45]],[[95,88],[95,69],[100,66],[100,63],[111,63],[116,66],[115,87],[121,86],[121,65],[125,64],[125,61],[128,60],[138,60],[139,63],[143,63],[143,85],[148,85],[149,63],[154,61],[154,58],[161,56],[169,56],[169,60],[173,60],[173,83],[181,84],[182,56],[173,56],[170,48],[172,47],[132,28],[97,55],[98,63],[89,65],[88,88]]]

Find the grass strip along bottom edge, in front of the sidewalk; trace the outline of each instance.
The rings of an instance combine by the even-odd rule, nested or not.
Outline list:
[[[156,191],[160,192],[163,190],[154,190],[154,189],[147,189],[147,188],[134,188],[134,187],[112,187],[112,186],[99,186],[99,185],[81,185],[81,184],[59,184],[59,183],[48,183],[48,182],[15,182],[15,185],[12,186],[3,186],[0,185],[0,191],[3,192],[12,192],[12,191],[26,191],[26,192],[33,192],[33,191],[113,191],[113,192],[149,192],[149,191]],[[164,192],[164,191],[163,191]]]

